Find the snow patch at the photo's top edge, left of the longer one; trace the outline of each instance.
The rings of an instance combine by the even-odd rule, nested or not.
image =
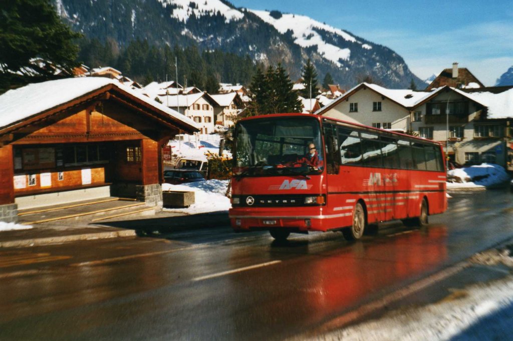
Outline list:
[[[236,9],[230,8],[219,0],[159,0],[164,7],[168,5],[176,5],[173,9],[172,17],[177,20],[187,22],[189,17],[194,13],[196,17],[203,15],[215,15],[220,12],[225,18],[226,23],[234,20],[241,20],[244,14]],[[192,4],[192,7],[191,7]]]

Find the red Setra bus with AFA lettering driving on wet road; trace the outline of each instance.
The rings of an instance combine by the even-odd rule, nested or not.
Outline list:
[[[291,232],[341,230],[354,240],[379,222],[424,225],[447,209],[437,142],[293,113],[239,121],[232,154],[235,232],[265,229],[285,240]]]

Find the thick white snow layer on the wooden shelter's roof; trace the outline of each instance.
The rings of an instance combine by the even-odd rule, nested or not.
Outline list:
[[[117,80],[103,77],[66,78],[29,84],[18,89],[9,90],[0,96],[0,128],[5,128],[38,113],[58,107],[109,84],[164,111],[174,119],[199,129],[198,124],[177,111],[155,102],[153,99],[144,96],[140,91],[131,89]]]

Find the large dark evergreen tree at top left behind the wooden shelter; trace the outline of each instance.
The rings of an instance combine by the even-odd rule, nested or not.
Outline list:
[[[49,0],[2,1],[0,92],[54,79],[54,67],[72,73],[81,34],[71,31]],[[33,59],[40,58],[37,63]]]

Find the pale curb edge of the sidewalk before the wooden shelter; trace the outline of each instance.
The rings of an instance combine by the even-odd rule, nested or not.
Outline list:
[[[39,246],[39,245],[64,243],[64,242],[68,242],[68,241],[106,239],[106,238],[117,238],[117,237],[132,237],[132,236],[135,236],[134,230],[83,233],[83,234],[67,235],[67,236],[53,236],[53,237],[44,237],[44,238],[29,238],[29,239],[0,241],[0,248],[25,248],[25,247],[34,247],[34,246]]]

